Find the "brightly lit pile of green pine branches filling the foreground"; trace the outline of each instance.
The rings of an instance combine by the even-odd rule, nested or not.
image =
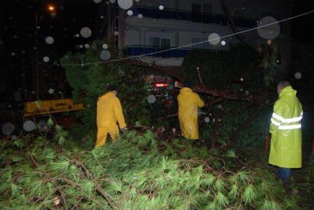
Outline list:
[[[63,134],[58,127],[1,141],[1,209],[299,208],[300,197],[286,194],[267,167],[226,146],[159,141],[146,130],[86,151],[75,139],[58,141]]]

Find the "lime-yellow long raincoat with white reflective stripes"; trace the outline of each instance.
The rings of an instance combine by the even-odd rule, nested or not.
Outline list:
[[[269,163],[282,168],[301,168],[302,105],[296,90],[285,87],[274,105],[270,130]]]

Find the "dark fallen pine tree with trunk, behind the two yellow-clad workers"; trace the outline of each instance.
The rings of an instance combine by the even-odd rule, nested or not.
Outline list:
[[[76,137],[86,137],[86,132],[95,129],[96,102],[98,97],[106,92],[108,84],[118,86],[118,97],[129,126],[141,122],[148,127],[163,126],[166,132],[171,132],[172,129],[179,131],[178,119],[175,118],[179,89],[164,91],[172,96],[171,105],[167,104],[163,97],[157,98],[154,104],[147,102],[150,94],[164,93],[156,93],[147,88],[148,84],[144,80],[149,72],[158,72],[177,81],[190,80],[194,84],[192,89],[199,93],[208,105],[203,108],[202,112],[205,114],[199,117],[199,122],[201,138],[211,147],[219,147],[221,143],[226,142],[237,144],[247,141],[243,136],[249,133],[258,138],[258,142],[264,141],[267,135],[264,126],[255,127],[256,132],[252,129],[248,132],[246,128],[257,120],[260,125],[269,123],[271,110],[267,106],[271,107],[274,99],[266,94],[265,85],[268,87],[273,84],[273,72],[276,71],[276,55],[271,53],[272,46],[267,45],[261,54],[241,45],[231,48],[228,52],[196,50],[184,59],[181,71],[171,71],[156,63],[145,63],[139,59],[98,63],[102,42],[95,41],[93,45],[95,47],[87,49],[84,53],[68,53],[61,59],[67,81],[73,89],[74,100],[85,106],[84,111],[78,114],[82,125],[73,131]],[[109,49],[112,52],[115,50],[113,46]],[[242,57],[247,59],[243,60]],[[271,70],[260,70],[261,63],[264,66],[262,69],[267,67]],[[220,106],[218,109],[217,105]],[[269,115],[269,119],[263,119],[261,115]],[[174,118],[169,118],[170,116]],[[204,123],[205,118],[209,118],[210,123]],[[225,136],[226,132],[228,138]]]

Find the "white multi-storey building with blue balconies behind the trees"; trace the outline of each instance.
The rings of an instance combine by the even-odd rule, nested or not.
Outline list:
[[[185,46],[180,49],[141,57],[143,61],[160,65],[180,66],[188,51],[195,48],[206,50],[228,50],[230,43],[239,42],[236,36],[222,38],[222,45],[204,42],[212,33],[220,37],[233,34],[223,10],[221,0],[133,0],[129,9],[119,8],[118,3],[106,6],[107,37],[119,31],[116,44],[125,56],[138,56],[157,51]],[[229,9],[237,31],[254,28],[265,16],[282,20],[291,15],[289,0],[222,0]],[[129,12],[128,12],[129,11]],[[115,17],[115,18],[114,18]],[[276,38],[280,44],[283,63],[288,64],[290,22],[280,23],[281,33]],[[256,46],[264,45],[257,30],[241,34]],[[284,66],[284,64],[282,64]]]

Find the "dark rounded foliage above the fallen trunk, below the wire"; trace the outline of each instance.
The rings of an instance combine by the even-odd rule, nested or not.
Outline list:
[[[257,68],[259,54],[251,47],[240,44],[232,47],[229,51],[194,51],[184,60],[182,72],[194,84],[198,84],[196,68],[202,73],[204,84],[211,88],[226,89],[232,85],[234,90],[240,90],[241,78],[245,80],[243,87],[259,87],[260,72]]]

